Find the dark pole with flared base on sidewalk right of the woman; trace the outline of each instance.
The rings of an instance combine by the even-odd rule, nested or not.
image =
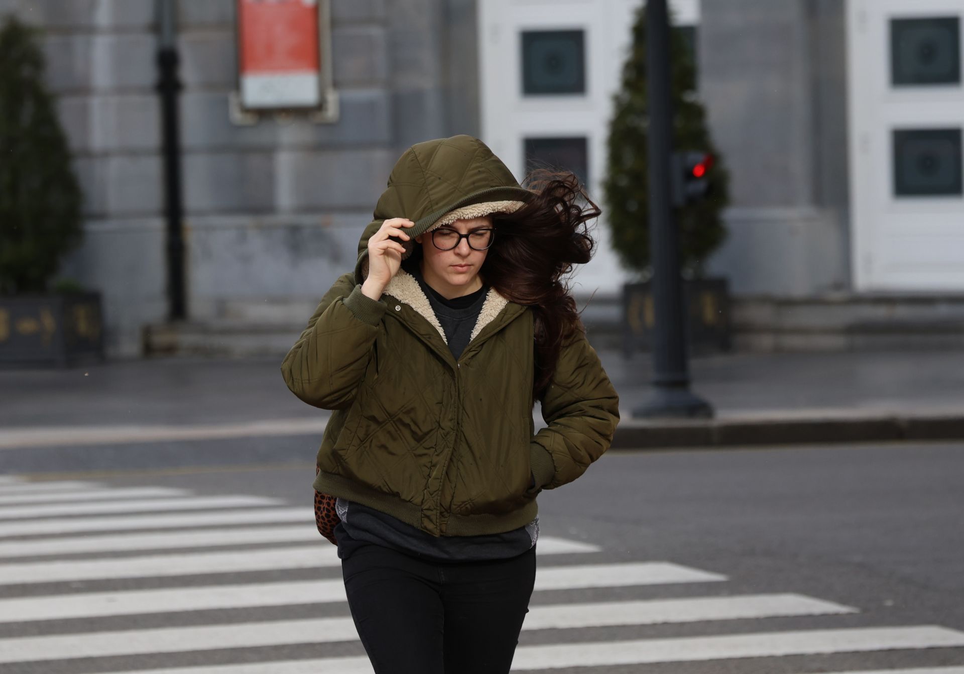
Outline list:
[[[653,252],[653,392],[633,417],[711,417],[712,408],[689,391],[680,245],[673,212],[670,33],[667,0],[646,4],[646,77],[649,90],[650,249]]]

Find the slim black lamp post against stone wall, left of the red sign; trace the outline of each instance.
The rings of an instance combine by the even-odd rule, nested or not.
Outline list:
[[[157,17],[157,91],[161,98],[161,136],[164,156],[164,210],[167,222],[166,252],[168,265],[169,320],[186,317],[184,292],[184,237],[181,220],[180,138],[177,102],[181,89],[177,79],[176,0],[155,0]]]

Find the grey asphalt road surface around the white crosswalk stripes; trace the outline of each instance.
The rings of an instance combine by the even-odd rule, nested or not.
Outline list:
[[[36,450],[44,474],[17,472],[20,478],[82,480],[108,489],[173,487],[197,497],[251,495],[279,499],[279,505],[304,506],[305,525],[313,476],[313,438],[258,438],[245,445],[244,464],[229,460],[228,441],[91,446],[99,458],[84,461],[85,451],[72,448],[77,465],[58,463],[55,449]],[[252,453],[258,448],[260,455]],[[234,441],[238,451],[238,442]],[[282,449],[280,449],[280,447]],[[272,452],[274,449],[274,452]],[[61,449],[66,452],[66,449]],[[50,453],[44,453],[50,452]],[[111,452],[152,457],[139,469],[112,472]],[[262,456],[262,460],[257,459]],[[194,461],[189,460],[194,457]],[[203,460],[201,460],[201,457]],[[90,458],[90,457],[88,457]],[[54,462],[54,468],[48,462]],[[193,465],[203,464],[203,465]],[[128,462],[129,465],[129,462]],[[95,466],[95,468],[92,468]],[[21,469],[30,468],[21,466]],[[8,475],[11,472],[7,472]],[[4,505],[0,505],[2,517]],[[186,511],[190,515],[191,511]],[[147,513],[151,514],[151,513]],[[65,515],[60,520],[70,519]],[[80,517],[79,515],[77,517]],[[58,518],[47,518],[47,520]],[[0,519],[28,522],[30,517]],[[40,521],[40,520],[38,520]],[[683,623],[572,627],[525,631],[517,661],[528,647],[567,642],[618,644],[631,639],[691,638],[703,648],[718,636],[829,631],[888,627],[938,626],[964,637],[964,446],[847,445],[723,450],[612,451],[575,483],[540,496],[541,540],[559,537],[599,546],[599,552],[540,556],[540,573],[554,567],[584,564],[668,561],[725,577],[722,582],[629,584],[538,591],[532,606],[632,600],[738,597],[791,593],[857,609],[821,615],[785,615]],[[208,527],[199,530],[221,530]],[[126,531],[121,535],[133,535]],[[81,533],[80,535],[84,535]],[[94,535],[88,533],[87,535]],[[73,537],[73,536],[71,536]],[[56,539],[20,535],[0,542]],[[307,540],[317,547],[320,538]],[[218,552],[239,556],[274,545],[234,545]],[[193,553],[198,549],[154,551],[153,554]],[[3,559],[3,564],[30,565],[57,560],[82,562],[135,557],[151,552],[53,553]],[[3,570],[0,564],[0,583]],[[29,570],[28,570],[29,573]],[[589,573],[587,571],[587,573]],[[69,574],[68,574],[69,575]],[[0,616],[5,600],[16,598],[88,596],[88,593],[290,580],[340,580],[336,566],[204,573],[174,577],[103,578],[0,584]],[[347,617],[344,603],[278,607],[235,607],[134,616],[0,623],[3,644],[28,636],[100,634],[174,626],[243,625],[251,622]],[[849,633],[847,633],[849,634]],[[942,633],[944,634],[944,633]],[[769,637],[766,637],[769,638]],[[5,641],[9,639],[9,641]],[[708,641],[710,639],[710,641]],[[764,639],[765,640],[765,639]],[[845,649],[844,649],[845,650]],[[199,671],[219,670],[217,664],[290,661],[336,656],[363,656],[357,641],[259,645],[191,650],[172,654],[143,653],[54,661],[0,664],[5,673],[147,671],[193,665]],[[964,641],[951,647],[870,649],[863,653],[715,658],[702,661],[649,662],[554,667],[546,671],[644,672],[673,674],[747,674],[838,672],[910,667],[964,665]],[[319,671],[334,671],[319,669]],[[165,670],[166,671],[166,670]],[[282,671],[267,669],[265,671]]]

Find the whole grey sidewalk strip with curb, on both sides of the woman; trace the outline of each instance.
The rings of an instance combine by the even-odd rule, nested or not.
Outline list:
[[[613,447],[964,440],[964,354],[735,354],[695,358],[715,418],[641,420],[648,354],[600,357],[620,393]],[[0,448],[297,435],[327,412],[281,380],[281,358],[201,358],[0,370]],[[536,417],[539,418],[538,412]]]

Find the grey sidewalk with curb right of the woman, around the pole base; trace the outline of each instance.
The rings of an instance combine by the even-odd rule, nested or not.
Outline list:
[[[600,357],[623,418],[613,447],[964,440],[959,351],[744,353],[695,358],[707,420],[631,416],[649,393],[649,354]]]

